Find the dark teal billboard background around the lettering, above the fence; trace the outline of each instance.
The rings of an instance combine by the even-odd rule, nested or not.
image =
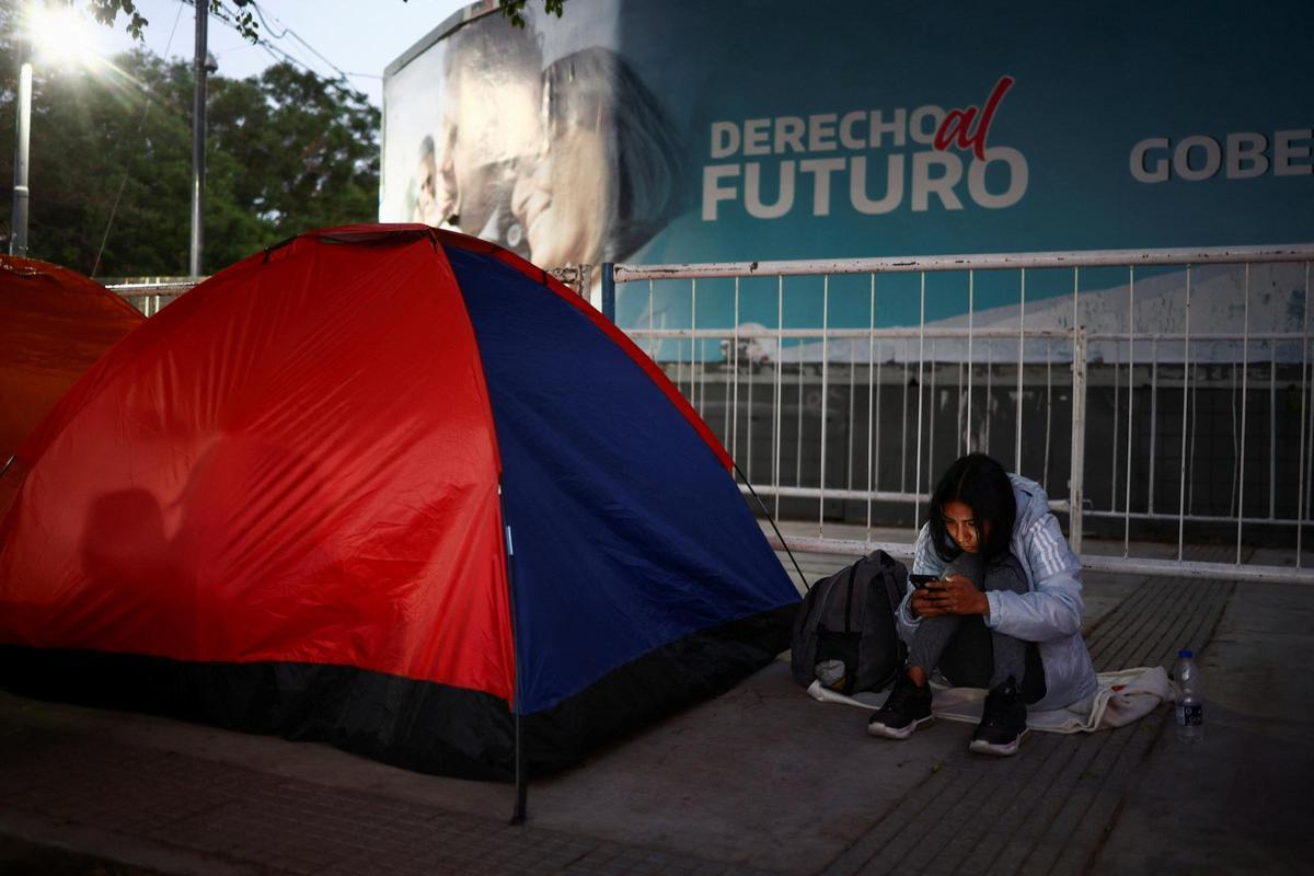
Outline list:
[[[671,14],[675,8],[679,14]],[[851,110],[888,117],[897,109],[980,106],[1005,75],[1014,84],[988,143],[1017,150],[1029,171],[1025,194],[1012,206],[979,206],[959,185],[962,209],[932,197],[916,211],[905,196],[883,215],[857,213],[834,181],[830,214],[815,215],[815,185],[800,175],[783,217],[754,219],[741,202],[721,204],[715,221],[687,236],[671,229],[649,253],[746,260],[1309,240],[1311,9],[1307,3],[816,3],[805,11],[767,1],[623,4],[622,53],[685,116],[699,171],[757,163],[774,181],[788,159],[871,162],[901,154],[911,162],[933,147],[837,144],[715,159],[711,129]],[[1277,131],[1293,133],[1282,176],[1272,167]],[[1223,151],[1236,133],[1269,141],[1268,172],[1227,179],[1219,168],[1197,181],[1172,175],[1142,183],[1129,169],[1142,141],[1176,146],[1205,137]],[[1155,148],[1147,163],[1171,151]],[[1200,169],[1205,158],[1196,147],[1190,163]],[[700,190],[702,180],[695,183]]]

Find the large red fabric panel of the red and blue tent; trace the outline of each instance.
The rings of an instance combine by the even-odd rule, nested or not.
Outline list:
[[[41,466],[0,524],[0,582],[25,582],[0,592],[9,628],[510,699],[497,445],[445,257],[300,239],[268,259],[160,311],[25,445]]]

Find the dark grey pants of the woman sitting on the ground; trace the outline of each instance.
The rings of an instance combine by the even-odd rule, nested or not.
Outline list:
[[[953,574],[966,577],[982,591],[1028,591],[1026,573],[1012,553],[997,557],[988,567],[979,554],[962,553],[945,567],[943,577]],[[928,675],[938,668],[955,686],[993,688],[1009,675],[1022,684],[1026,646],[1021,638],[987,628],[979,615],[926,617],[917,625],[908,665],[920,666]]]

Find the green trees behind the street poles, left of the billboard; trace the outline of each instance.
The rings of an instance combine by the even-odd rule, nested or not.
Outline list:
[[[0,0],[4,144],[14,142],[13,5]],[[184,274],[193,72],[143,51],[116,63],[34,71],[30,255],[97,276]],[[292,234],[376,219],[380,120],[364,95],[290,64],[208,81],[206,273]],[[4,205],[12,173],[0,162]],[[9,218],[0,208],[0,239]]]

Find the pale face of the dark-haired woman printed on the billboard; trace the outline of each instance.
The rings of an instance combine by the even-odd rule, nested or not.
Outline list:
[[[522,162],[511,211],[540,268],[597,264],[614,185],[607,159],[597,127],[565,123],[536,156]]]

